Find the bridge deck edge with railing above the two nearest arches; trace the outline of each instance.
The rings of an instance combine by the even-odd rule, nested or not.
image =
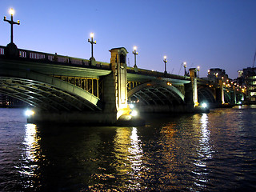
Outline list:
[[[5,48],[6,46],[0,46],[0,58],[5,58]],[[22,62],[33,62],[33,64],[31,64],[32,68],[34,68],[33,66],[35,66],[36,63],[43,63],[43,66],[36,66],[37,68],[40,68],[40,71],[43,74],[60,74],[60,71],[58,70],[62,69],[62,75],[95,78],[96,76],[110,74],[111,72],[111,64],[108,62],[96,61],[96,66],[90,66],[90,60],[84,58],[73,58],[69,56],[48,54],[33,50],[18,49],[18,52],[19,58],[16,59]],[[85,70],[82,70],[82,68],[86,68],[86,71],[88,72],[85,73]],[[127,78],[128,81],[143,81],[144,79],[153,80],[157,78],[166,78],[172,79],[173,82],[190,82],[189,77],[176,74],[164,74],[154,70],[138,69],[138,71],[135,72],[133,67],[127,67]]]

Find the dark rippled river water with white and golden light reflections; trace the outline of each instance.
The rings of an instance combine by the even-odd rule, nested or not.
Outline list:
[[[144,127],[38,126],[0,109],[0,191],[255,191],[256,106]]]

